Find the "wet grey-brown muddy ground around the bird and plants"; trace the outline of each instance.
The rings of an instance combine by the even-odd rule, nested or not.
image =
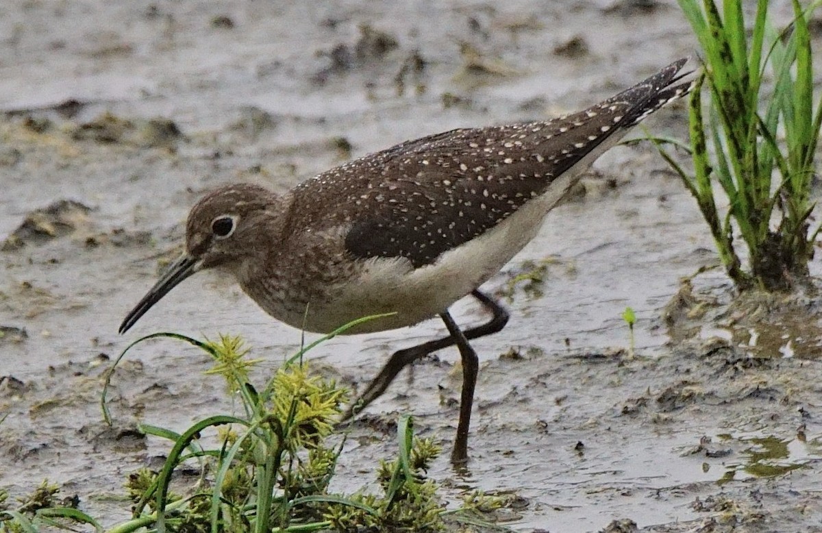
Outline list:
[[[127,429],[238,407],[208,359],[157,342],[115,374],[109,429],[100,377],[128,342],[239,334],[266,371],[300,343],[212,274],[118,336],[203,192],[284,191],[411,137],[554,116],[695,52],[668,0],[19,0],[0,3],[0,43],[0,486],[48,478],[109,525],[128,516],[124,475],[167,450]],[[681,106],[648,121],[677,137],[685,123]],[[818,290],[731,304],[694,202],[647,145],[603,156],[487,289],[505,293],[528,262],[543,282],[517,285],[509,326],[475,342],[469,472],[447,454],[430,472],[452,504],[511,491],[518,531],[822,531]],[[471,303],[456,315],[483,320]],[[311,359],[363,387],[442,329],[338,338]],[[423,361],[369,408],[338,489],[372,482],[398,413],[450,446],[455,359]]]

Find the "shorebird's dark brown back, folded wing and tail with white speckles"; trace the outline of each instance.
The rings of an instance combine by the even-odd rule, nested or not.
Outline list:
[[[684,63],[577,114],[456,129],[366,155],[303,183],[298,196],[334,204],[323,211],[337,218],[320,224],[349,225],[344,246],[355,257],[431,264],[542,195],[603,142],[684,94],[690,84],[671,86]]]

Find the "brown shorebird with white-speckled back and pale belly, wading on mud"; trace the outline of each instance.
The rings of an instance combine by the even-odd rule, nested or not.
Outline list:
[[[406,141],[284,194],[248,183],[218,188],[192,208],[185,252],[120,332],[182,280],[211,268],[233,276],[272,317],[307,331],[329,333],[360,317],[394,313],[346,333],[386,331],[439,315],[449,336],[395,352],[344,418],[380,396],[414,360],[457,345],[463,388],[451,461],[464,463],[478,373],[469,340],[508,322],[480,285],[533,239],[593,160],[686,94],[685,63],[579,113]],[[492,318],[463,331],[448,309],[468,294]]]

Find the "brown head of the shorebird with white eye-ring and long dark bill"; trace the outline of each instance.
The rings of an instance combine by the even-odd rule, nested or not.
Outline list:
[[[120,324],[125,333],[154,304],[192,274],[231,266],[266,247],[262,220],[277,205],[277,195],[249,183],[226,185],[203,197],[188,214],[186,251],[127,314]],[[262,234],[257,234],[262,231]],[[256,232],[256,233],[255,233]]]

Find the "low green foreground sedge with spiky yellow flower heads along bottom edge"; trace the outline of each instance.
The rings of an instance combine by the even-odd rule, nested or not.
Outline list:
[[[240,400],[242,415],[209,416],[182,433],[141,424],[141,431],[168,439],[171,448],[161,470],[142,468],[128,476],[132,518],[109,533],[435,533],[446,531],[446,523],[481,522],[474,513],[481,509],[470,502],[487,498],[477,496],[462,508],[446,509],[437,484],[426,476],[440,447],[430,439],[414,438],[407,416],[399,419],[397,457],[376,468],[379,494],[332,492],[345,437],[335,438],[334,445],[327,438],[348,398],[335,382],[316,376],[302,363],[302,355],[316,343],[289,359],[262,387],[249,378],[259,360],[250,359],[247,346],[233,336],[216,341],[173,333],[147,336],[129,345],[112,371],[133,345],[155,337],[186,341],[209,354],[215,364],[208,373],[224,378],[229,395]],[[104,414],[110,419],[105,407]],[[175,472],[192,467],[199,471],[196,481],[183,484]],[[20,508],[0,507],[0,531],[41,531],[55,523],[54,517],[104,531],[76,509],[76,500],[72,506],[56,501],[57,492],[56,485],[44,484],[39,495]],[[0,494],[0,505],[2,500]]]

